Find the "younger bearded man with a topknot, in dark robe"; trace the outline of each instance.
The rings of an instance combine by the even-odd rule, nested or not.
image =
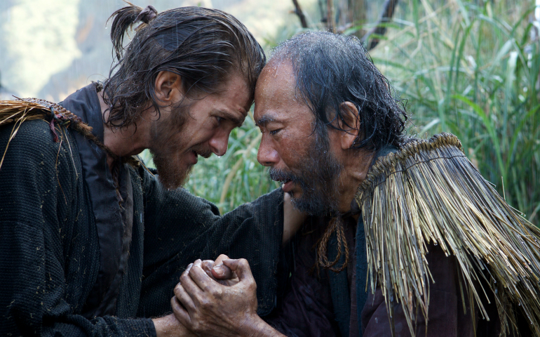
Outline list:
[[[292,214],[283,192],[221,217],[177,188],[198,156],[227,151],[262,48],[222,11],[128,6],[112,17],[118,62],[104,83],[60,105],[0,103],[2,336],[182,336],[173,315],[137,317],[170,312],[185,265],[219,253],[260,262],[257,281],[275,287]],[[144,149],[158,174],[133,157]],[[259,301],[274,308],[274,297]]]

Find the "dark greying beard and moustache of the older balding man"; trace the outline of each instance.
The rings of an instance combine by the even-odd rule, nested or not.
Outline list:
[[[302,189],[302,193],[291,194],[295,208],[310,216],[325,216],[337,211],[338,178],[343,166],[332,155],[325,126],[316,126],[316,137],[309,145],[309,154],[299,158],[301,167],[297,172],[271,167],[272,180],[292,180]],[[320,129],[319,129],[320,128]],[[321,130],[322,129],[322,130]]]

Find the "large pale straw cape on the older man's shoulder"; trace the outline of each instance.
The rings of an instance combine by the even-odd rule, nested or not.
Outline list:
[[[461,298],[465,291],[482,318],[495,318],[482,306],[494,293],[501,336],[517,328],[516,308],[540,336],[540,231],[482,178],[455,136],[412,140],[378,159],[355,198],[365,224],[371,289],[381,286],[389,317],[393,301],[401,303],[412,336],[415,310],[426,318],[426,329],[428,324],[430,243],[455,256]],[[487,286],[478,286],[482,280]]]

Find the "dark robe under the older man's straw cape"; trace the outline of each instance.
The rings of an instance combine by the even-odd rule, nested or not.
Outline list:
[[[395,147],[386,147],[377,153],[374,161]],[[350,249],[349,264],[345,270],[335,273],[329,270],[316,271],[316,249],[329,218],[310,217],[304,227],[288,246],[292,262],[281,267],[280,272],[289,275],[283,286],[282,299],[266,322],[287,336],[363,336],[390,337],[391,320],[386,313],[382,291],[377,286],[374,293],[367,283],[367,258],[364,224],[360,214],[358,223],[351,217],[344,219],[344,228]],[[337,251],[335,234],[328,244],[328,260],[334,260]],[[430,284],[428,329],[424,316],[418,312],[414,318],[417,337],[495,337],[499,336],[500,323],[497,306],[491,294],[490,302],[484,306],[490,321],[482,319],[478,308],[474,322],[469,300],[461,300],[455,258],[446,257],[438,246],[428,246],[426,255],[434,283]],[[344,261],[342,256],[337,265]],[[366,291],[367,283],[367,291]],[[489,294],[489,288],[484,285]],[[479,292],[480,293],[480,292]],[[465,305],[464,305],[465,303]],[[394,303],[393,326],[396,337],[410,336],[401,303]],[[529,336],[522,330],[523,336]]]

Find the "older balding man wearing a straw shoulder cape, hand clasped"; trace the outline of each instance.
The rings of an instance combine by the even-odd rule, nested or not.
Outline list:
[[[259,162],[311,215],[292,277],[263,322],[247,261],[224,260],[231,286],[197,261],[175,288],[176,317],[215,336],[539,336],[539,230],[457,138],[406,138],[406,119],[358,39],[307,33],[278,46],[255,121]]]

